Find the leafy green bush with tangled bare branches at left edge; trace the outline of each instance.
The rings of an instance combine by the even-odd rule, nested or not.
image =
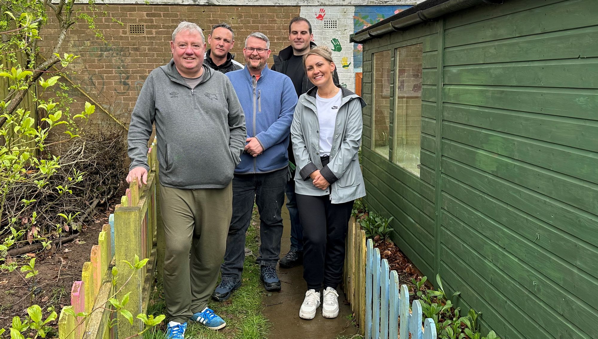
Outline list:
[[[102,38],[94,26],[95,1],[7,0],[0,2],[0,11],[0,270],[10,271],[14,265],[2,258],[11,247],[50,248],[63,231],[80,230],[82,216],[70,216],[90,206],[89,187],[104,190],[94,191],[91,200],[106,196],[111,187],[88,184],[81,159],[70,156],[87,156],[90,143],[80,138],[81,126],[95,106],[86,102],[80,114],[72,113],[74,100],[59,83],[79,57],[63,51],[71,26],[85,22]],[[57,31],[44,36],[48,16],[55,18]],[[38,46],[42,36],[44,50]]]

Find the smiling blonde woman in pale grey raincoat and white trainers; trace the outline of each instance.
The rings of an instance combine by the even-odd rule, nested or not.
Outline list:
[[[353,200],[365,196],[358,158],[365,102],[332,81],[336,66],[330,48],[312,48],[303,66],[315,87],[299,97],[291,124],[307,283],[299,316],[315,317],[322,291],[322,316],[334,318]]]

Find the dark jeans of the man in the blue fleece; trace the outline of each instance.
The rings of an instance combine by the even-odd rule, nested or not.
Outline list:
[[[233,178],[233,218],[228,228],[222,280],[241,280],[245,261],[245,232],[255,203],[260,212],[260,265],[276,267],[280,256],[282,216],[288,169],[269,173],[235,174]]]

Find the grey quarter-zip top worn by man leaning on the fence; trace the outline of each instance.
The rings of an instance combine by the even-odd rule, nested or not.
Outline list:
[[[230,80],[203,65],[190,88],[170,60],[148,76],[131,115],[129,169],[147,166],[152,124],[160,183],[173,188],[223,188],[245,147],[245,115]]]

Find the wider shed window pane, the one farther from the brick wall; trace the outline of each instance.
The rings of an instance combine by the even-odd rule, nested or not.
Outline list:
[[[422,44],[395,50],[393,161],[419,176],[422,132]]]

